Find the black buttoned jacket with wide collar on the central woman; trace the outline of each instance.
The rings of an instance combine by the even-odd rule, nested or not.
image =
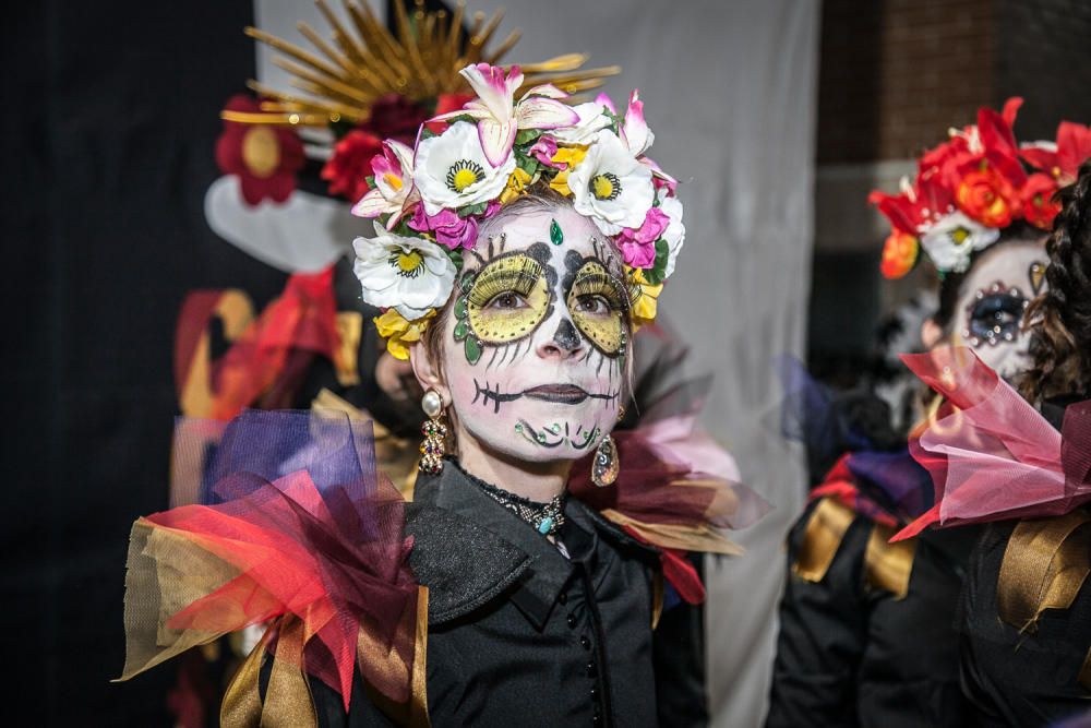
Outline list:
[[[433,726],[655,726],[652,574],[658,553],[568,499],[571,559],[456,463],[421,476],[406,534],[429,588]],[[321,726],[393,725],[359,675],[346,715],[312,680]]]

